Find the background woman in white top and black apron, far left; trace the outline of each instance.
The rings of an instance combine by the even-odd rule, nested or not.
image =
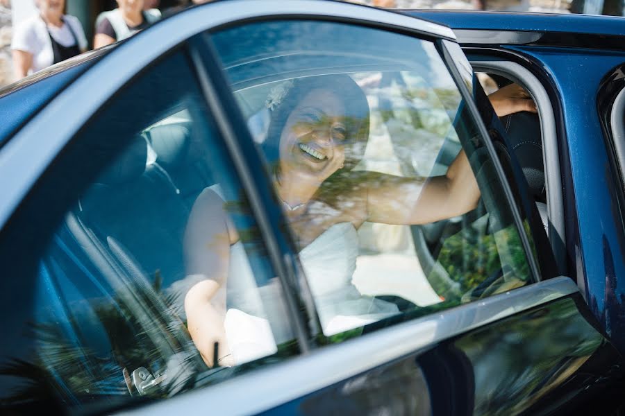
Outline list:
[[[39,14],[15,28],[11,49],[19,78],[87,50],[81,22],[64,15],[65,0],[36,0]]]

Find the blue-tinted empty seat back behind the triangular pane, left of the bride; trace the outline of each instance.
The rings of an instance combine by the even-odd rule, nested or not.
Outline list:
[[[136,261],[151,283],[166,288],[185,275],[183,235],[190,214],[148,145],[137,136],[81,197],[78,219],[118,261]]]

